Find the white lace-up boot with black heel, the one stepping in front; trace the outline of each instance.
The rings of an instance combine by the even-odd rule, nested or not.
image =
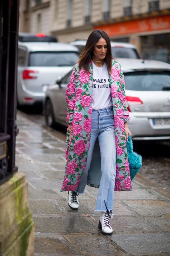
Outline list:
[[[110,226],[109,222],[109,211],[101,211],[99,218],[99,229],[101,229],[101,233],[107,236],[111,236],[113,234],[113,229]]]

